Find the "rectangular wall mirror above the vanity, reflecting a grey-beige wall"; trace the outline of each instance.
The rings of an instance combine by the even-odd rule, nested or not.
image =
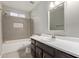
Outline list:
[[[64,2],[50,2],[48,17],[49,30],[64,30]]]

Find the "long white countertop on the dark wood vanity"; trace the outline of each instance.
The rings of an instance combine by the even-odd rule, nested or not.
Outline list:
[[[47,41],[37,35],[31,36],[31,38],[40,41],[48,46],[54,47],[60,51],[66,52],[70,55],[79,57],[79,42],[60,38],[52,38]]]

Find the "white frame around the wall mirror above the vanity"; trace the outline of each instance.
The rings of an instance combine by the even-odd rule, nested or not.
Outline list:
[[[64,15],[65,15],[65,2],[63,2],[63,4],[64,4]],[[65,35],[65,16],[64,16],[64,30],[50,30],[50,10],[48,9],[48,32],[51,34],[53,33],[54,35]]]

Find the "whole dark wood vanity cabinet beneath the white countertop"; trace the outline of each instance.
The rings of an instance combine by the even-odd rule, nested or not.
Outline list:
[[[31,53],[35,58],[75,58],[34,39],[31,39]]]

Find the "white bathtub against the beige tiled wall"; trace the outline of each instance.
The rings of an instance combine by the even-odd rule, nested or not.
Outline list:
[[[29,38],[5,41],[2,46],[2,54],[17,51],[22,47],[27,48],[30,44],[31,40]]]

